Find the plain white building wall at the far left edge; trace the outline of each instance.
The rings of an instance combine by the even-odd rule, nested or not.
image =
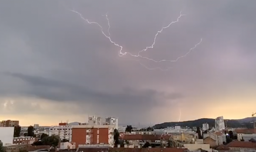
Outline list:
[[[13,140],[14,127],[0,127],[0,141],[3,146],[11,145]]]

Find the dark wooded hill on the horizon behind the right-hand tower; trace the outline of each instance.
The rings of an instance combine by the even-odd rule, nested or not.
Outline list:
[[[225,119],[225,123],[227,123],[228,127],[231,128],[237,128],[237,127],[247,127],[247,128],[253,128],[253,118],[244,118],[244,119]],[[182,126],[182,127],[202,127],[203,123],[208,123],[209,127],[214,127],[215,126],[215,119],[210,119],[210,118],[201,118],[197,120],[190,120],[190,121],[182,121],[182,122],[164,122],[161,124],[156,124],[153,126],[155,129],[161,129],[161,128],[167,128],[167,127],[172,127],[172,126]]]

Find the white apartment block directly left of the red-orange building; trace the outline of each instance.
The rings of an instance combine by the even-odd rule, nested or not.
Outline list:
[[[49,136],[58,135],[61,140],[72,140],[72,126],[51,126],[49,129]]]

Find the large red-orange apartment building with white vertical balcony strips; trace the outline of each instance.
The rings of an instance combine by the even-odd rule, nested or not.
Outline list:
[[[114,146],[114,129],[116,125],[77,125],[72,126],[72,142],[76,148],[80,145]]]

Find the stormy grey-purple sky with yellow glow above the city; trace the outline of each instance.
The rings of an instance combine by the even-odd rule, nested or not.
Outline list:
[[[97,114],[118,117],[120,124],[154,125],[250,117],[256,112],[255,5],[0,0],[0,120],[56,125]],[[174,23],[142,57],[120,56],[100,26],[74,11],[134,55]]]

